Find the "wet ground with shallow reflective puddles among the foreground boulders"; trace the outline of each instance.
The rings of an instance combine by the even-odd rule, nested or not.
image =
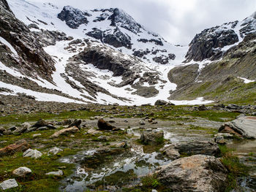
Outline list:
[[[106,120],[113,120],[112,118]],[[158,166],[170,163],[170,160],[164,158],[159,152],[163,146],[143,146],[136,142],[139,139],[140,132],[145,130],[157,129],[164,131],[166,145],[168,143],[213,140],[213,134],[221,123],[214,121],[198,119],[191,123],[171,123],[170,121],[157,121],[157,124],[150,124],[145,120],[146,125],[140,125],[140,119],[122,119],[115,118],[115,126],[126,129],[127,134],[133,139],[127,141],[130,148],[115,155],[108,154],[97,155],[98,148],[87,150],[78,155],[61,159],[62,162],[79,162],[74,174],[66,178],[63,183],[62,191],[85,191],[87,190],[109,190],[118,191],[120,188],[129,188],[132,185],[140,183],[140,177],[154,172]],[[97,120],[89,121],[91,127],[95,127]],[[129,127],[128,127],[129,126]],[[197,130],[191,126],[207,127],[206,130]],[[235,142],[228,145],[236,148],[236,154],[244,156],[256,153],[256,141]],[[110,147],[111,148],[111,147]],[[96,155],[95,155],[96,154]],[[79,159],[79,160],[78,160]],[[86,160],[89,161],[86,163]],[[94,163],[91,163],[94,162]],[[255,180],[253,177],[239,178],[240,185],[246,191],[253,191]]]

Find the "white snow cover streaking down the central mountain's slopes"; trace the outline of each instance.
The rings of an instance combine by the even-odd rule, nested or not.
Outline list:
[[[111,26],[111,21],[108,19],[102,20],[100,22],[94,22],[95,18],[98,18],[100,15],[102,15],[102,11],[100,10],[94,10],[94,11],[86,11],[89,12],[91,16],[87,17],[89,23],[88,24],[82,24],[78,28],[69,28],[69,26],[66,25],[64,21],[61,21],[59,18],[57,18],[57,15],[61,12],[62,7],[57,7],[53,4],[40,4],[40,3],[29,3],[28,1],[24,0],[12,0],[8,1],[10,4],[10,7],[12,11],[15,13],[15,16],[22,20],[23,23],[26,25],[29,25],[31,23],[36,23],[39,28],[49,30],[49,31],[63,31],[67,36],[72,36],[75,39],[91,39],[95,41],[93,37],[89,37],[86,34],[89,31],[92,31],[94,28],[98,28],[102,31],[108,31],[108,33],[113,33],[115,30],[115,26]],[[109,12],[108,10],[105,11],[105,14],[112,14],[113,12]],[[129,18],[127,15],[125,15],[125,12],[121,11],[121,14],[123,14],[126,18]],[[129,21],[132,21],[132,25],[137,25],[135,23],[135,20],[132,20],[132,18],[129,18]],[[117,22],[122,22],[122,20],[117,20]],[[129,22],[128,22],[129,23]],[[124,23],[121,23],[120,25],[123,25]],[[119,24],[118,24],[119,25]],[[91,82],[96,83],[97,85],[101,86],[102,88],[105,88],[107,91],[112,93],[115,96],[118,97],[124,97],[131,101],[121,101],[119,99],[113,98],[113,96],[107,95],[105,93],[97,93],[97,103],[100,104],[108,104],[108,103],[118,103],[118,104],[154,104],[154,102],[157,99],[166,100],[170,96],[169,91],[173,91],[176,89],[176,84],[171,83],[167,78],[167,73],[172,69],[174,66],[181,65],[182,61],[184,61],[184,56],[187,53],[188,47],[178,47],[174,45],[170,45],[168,42],[165,42],[162,37],[159,37],[159,35],[151,33],[150,31],[146,31],[145,28],[142,26],[135,27],[135,31],[138,31],[138,34],[136,34],[134,31],[128,30],[127,25],[123,25],[123,27],[119,27],[121,32],[128,35],[131,38],[132,43],[132,49],[129,49],[127,47],[113,47],[108,45],[108,47],[113,48],[113,54],[118,54],[119,51],[122,53],[127,54],[127,58],[130,58],[130,55],[135,53],[135,50],[149,50],[151,53],[153,51],[156,51],[155,54],[146,54],[145,57],[140,58],[141,61],[138,64],[142,71],[140,72],[140,76],[142,77],[145,72],[148,71],[156,71],[159,72],[159,76],[162,81],[159,81],[157,85],[155,85],[155,88],[159,93],[157,96],[151,97],[151,98],[144,98],[142,96],[138,96],[135,94],[132,94],[135,89],[132,88],[131,85],[126,85],[121,88],[117,88],[113,85],[110,85],[110,82],[121,82],[121,77],[113,77],[113,72],[110,72],[108,70],[100,70],[97,69],[95,66],[91,64],[83,65],[81,68],[85,72],[91,72],[94,75],[94,77],[89,77],[89,80]],[[39,31],[38,29],[31,29],[31,31]],[[156,45],[155,42],[141,42],[140,39],[158,39],[162,42],[163,45]],[[47,52],[49,55],[55,56],[53,57],[56,60],[56,72],[53,73],[53,82],[54,85],[46,80],[34,80],[29,78],[30,80],[34,80],[34,82],[37,82],[38,85],[50,88],[50,89],[56,89],[58,91],[61,91],[62,93],[66,93],[69,96],[83,99],[85,102],[89,102],[89,99],[86,99],[84,96],[90,96],[89,93],[86,91],[78,91],[75,88],[72,88],[69,83],[66,82],[64,77],[61,76],[61,74],[67,75],[65,72],[65,68],[67,66],[67,61],[70,57],[72,57],[75,54],[78,54],[79,51],[76,50],[75,52],[71,53],[64,49],[64,47],[68,46],[68,43],[70,41],[62,41],[57,42],[56,45],[51,45],[48,47],[45,47],[45,52]],[[92,42],[92,41],[91,41]],[[95,44],[105,44],[104,39],[102,43],[95,42]],[[86,47],[86,46],[84,46]],[[81,47],[81,48],[84,48]],[[161,51],[157,51],[161,50]],[[176,55],[175,60],[171,60],[168,64],[161,65],[154,61],[154,58],[160,57],[160,56],[168,56],[169,53],[173,53]],[[56,59],[57,58],[57,59]],[[14,69],[7,69],[7,67],[4,66],[4,64],[1,64],[1,69],[6,69],[7,72],[10,72],[10,74],[15,74],[21,77],[21,74],[17,74]],[[105,80],[102,78],[102,76],[107,75],[109,77],[108,80]],[[67,75],[68,76],[68,75]],[[69,80],[72,80],[75,82],[76,85],[79,87],[83,87],[80,82],[74,80],[72,77],[68,76]],[[163,82],[166,81],[166,82]],[[136,81],[135,81],[136,82]],[[135,83],[134,82],[134,83]],[[1,84],[3,86],[7,86],[4,84]],[[144,82],[144,86],[150,86],[147,82]],[[21,88],[12,88],[12,91],[15,90],[15,93],[17,91],[23,91],[23,93],[31,93],[35,95],[35,93],[26,91]],[[129,91],[128,91],[129,90]],[[49,96],[49,98],[52,98],[52,96]],[[59,98],[59,101],[64,101]],[[37,99],[39,97],[37,96]],[[40,98],[42,99],[42,98]],[[55,99],[56,101],[58,99]],[[67,99],[66,101],[70,101],[72,99]],[[48,101],[46,99],[45,101]],[[72,100],[73,101],[73,100]],[[203,101],[202,98],[196,99],[195,101],[172,101],[174,104],[200,104],[200,103],[208,103],[211,101]]]

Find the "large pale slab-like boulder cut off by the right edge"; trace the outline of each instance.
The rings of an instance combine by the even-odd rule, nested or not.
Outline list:
[[[245,139],[256,139],[256,117],[240,117],[224,123],[219,128],[219,132],[237,135]]]

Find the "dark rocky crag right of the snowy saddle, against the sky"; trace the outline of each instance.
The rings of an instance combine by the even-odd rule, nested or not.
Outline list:
[[[237,24],[237,22],[233,24]],[[186,61],[203,61],[206,58],[219,59],[222,56],[220,48],[233,45],[236,42],[238,42],[238,35],[233,29],[220,26],[208,28],[197,34],[190,42]]]

